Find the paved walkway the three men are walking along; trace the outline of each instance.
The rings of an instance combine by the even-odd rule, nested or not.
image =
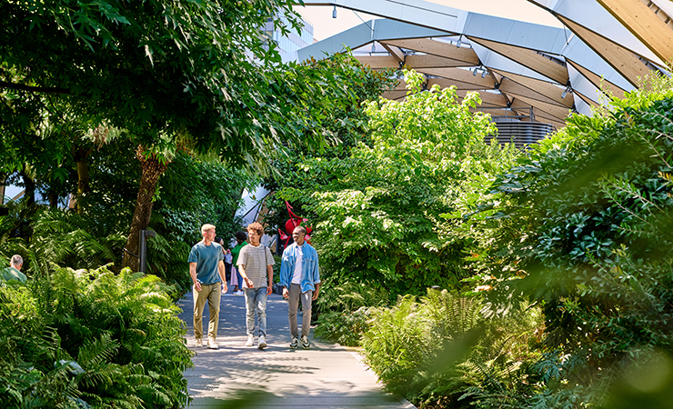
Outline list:
[[[189,394],[194,397],[191,407],[415,408],[385,393],[377,384],[376,375],[347,348],[316,341],[311,336],[309,350],[291,350],[287,302],[280,295],[271,294],[267,300],[268,346],[264,351],[244,345],[247,339],[245,297],[231,292],[222,295],[217,337],[220,349],[196,348],[192,300],[190,293],[179,302],[183,309],[180,317],[188,328],[187,346],[196,351],[196,367],[185,372]],[[207,309],[206,304],[206,333]],[[252,398],[250,392],[255,392]]]

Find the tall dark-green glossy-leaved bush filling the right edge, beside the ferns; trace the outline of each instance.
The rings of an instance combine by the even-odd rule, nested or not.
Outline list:
[[[522,297],[542,306],[539,365],[557,368],[542,371],[544,402],[603,404],[627,368],[673,350],[673,87],[656,82],[573,115],[494,186],[482,284],[493,313]]]

